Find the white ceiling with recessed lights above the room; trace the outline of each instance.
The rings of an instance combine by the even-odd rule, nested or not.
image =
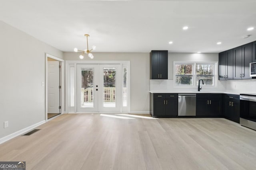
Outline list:
[[[94,52],[218,53],[256,40],[256,0],[0,0],[0,20],[61,51],[86,49],[85,33]]]

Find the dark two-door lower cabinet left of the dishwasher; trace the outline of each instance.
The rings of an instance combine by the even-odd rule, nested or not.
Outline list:
[[[178,94],[150,93],[150,115],[152,117],[177,117]]]

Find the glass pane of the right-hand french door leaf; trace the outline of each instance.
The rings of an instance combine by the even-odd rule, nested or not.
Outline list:
[[[103,68],[103,107],[116,107],[116,68]]]

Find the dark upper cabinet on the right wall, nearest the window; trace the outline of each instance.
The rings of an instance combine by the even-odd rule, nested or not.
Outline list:
[[[219,80],[233,79],[233,49],[219,53]]]

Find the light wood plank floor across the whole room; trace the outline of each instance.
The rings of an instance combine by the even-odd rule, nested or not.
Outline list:
[[[1,144],[0,161],[26,161],[27,170],[256,169],[256,131],[222,118],[64,114],[36,129]]]

